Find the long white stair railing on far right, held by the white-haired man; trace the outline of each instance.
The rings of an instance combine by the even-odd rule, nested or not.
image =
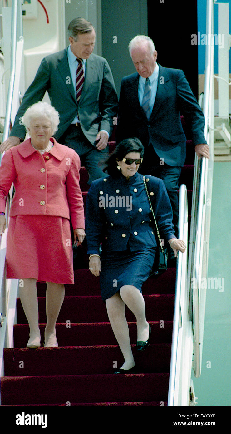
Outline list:
[[[213,0],[207,0],[206,32],[213,34]],[[211,196],[214,162],[214,46],[206,46],[205,57],[205,139],[209,145],[210,158],[198,160],[195,156],[194,187],[192,197],[188,283],[190,284],[189,317],[193,321],[194,374],[201,374],[203,334],[205,322],[208,249],[211,217]]]

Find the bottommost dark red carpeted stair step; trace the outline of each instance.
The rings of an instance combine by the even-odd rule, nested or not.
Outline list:
[[[2,405],[54,402],[70,403],[70,405],[73,402],[162,402],[168,399],[168,380],[167,372],[126,375],[4,376],[1,377],[1,399]]]

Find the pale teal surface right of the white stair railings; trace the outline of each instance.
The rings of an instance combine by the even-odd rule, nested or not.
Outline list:
[[[231,162],[214,162],[208,277],[220,277],[220,288],[224,278],[224,285],[206,293],[201,376],[191,375],[199,406],[231,405],[230,188]]]

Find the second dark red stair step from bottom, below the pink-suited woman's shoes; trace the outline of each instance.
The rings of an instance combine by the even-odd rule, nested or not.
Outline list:
[[[152,344],[144,352],[132,345],[132,351],[138,372],[169,371],[171,343]],[[112,374],[123,357],[118,345],[5,348],[4,363],[6,376]]]

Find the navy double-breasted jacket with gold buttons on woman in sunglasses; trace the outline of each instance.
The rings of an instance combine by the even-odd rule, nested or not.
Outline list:
[[[175,238],[172,207],[163,181],[145,176],[160,237]],[[88,253],[102,250],[131,251],[157,246],[154,223],[143,177],[138,172],[129,180],[106,175],[93,181],[86,201],[86,239]]]

